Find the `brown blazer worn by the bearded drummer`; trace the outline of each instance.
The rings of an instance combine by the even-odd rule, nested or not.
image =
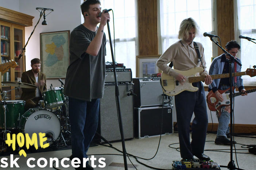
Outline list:
[[[47,90],[46,89],[46,76],[42,72],[38,73],[38,82],[40,80],[44,80],[44,82],[45,82],[44,86],[39,88],[40,93],[42,95],[43,91]],[[32,72],[32,69],[22,73],[22,82],[32,84],[32,85],[36,84],[35,76],[34,76],[34,73]],[[35,93],[36,93],[36,88],[35,89],[22,88],[22,96],[20,99],[21,100],[30,100],[35,97]]]

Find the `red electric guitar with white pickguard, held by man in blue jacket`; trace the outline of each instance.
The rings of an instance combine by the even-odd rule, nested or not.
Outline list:
[[[211,111],[216,111],[221,106],[228,106],[228,105],[230,105],[229,89],[230,88],[228,88],[226,90],[218,90],[220,92],[220,94],[222,95],[222,97],[223,97],[223,101],[222,102],[217,99],[216,94],[213,93],[213,90],[211,90],[207,94],[206,101],[207,101],[208,108]],[[232,87],[232,89],[234,90],[234,87]],[[252,92],[256,92],[256,89],[246,90],[246,93],[252,93]],[[236,96],[240,96],[241,94],[243,94],[243,93],[241,93],[241,92],[233,93],[232,96],[236,97]]]

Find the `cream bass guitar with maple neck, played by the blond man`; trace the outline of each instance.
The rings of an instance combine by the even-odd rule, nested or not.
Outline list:
[[[203,71],[202,67],[194,67],[194,68],[191,68],[186,71],[180,71],[180,70],[174,69],[174,71],[182,74],[185,77],[185,82],[183,82],[183,84],[181,84],[174,77],[169,76],[166,73],[162,73],[160,83],[162,85],[164,94],[166,94],[167,96],[175,96],[185,90],[190,91],[190,92],[196,92],[198,90],[198,88],[194,87],[192,85],[192,83],[205,80],[204,76],[195,76],[197,73]],[[256,69],[248,68],[245,72],[232,73],[232,76],[243,76],[243,75],[248,75],[248,76],[254,77],[254,76],[256,76]],[[217,78],[228,78],[229,73],[214,74],[214,75],[211,75],[211,77],[213,80],[217,79]]]

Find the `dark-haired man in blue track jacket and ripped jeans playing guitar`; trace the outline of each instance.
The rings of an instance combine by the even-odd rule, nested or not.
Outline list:
[[[232,56],[236,57],[238,51],[240,50],[240,45],[234,41],[231,40],[226,44],[226,51],[230,53]],[[229,73],[229,63],[226,61],[226,59],[229,59],[230,57],[226,55],[225,53],[221,54],[220,56],[214,58],[210,69],[209,74],[225,74]],[[241,60],[236,58],[238,62],[241,63]],[[235,72],[241,72],[241,66],[232,63],[232,69],[235,70]],[[243,92],[242,96],[247,95],[245,92],[243,85],[243,79],[241,76],[234,77],[233,82],[235,83],[235,86],[238,87],[238,90],[240,92]],[[216,98],[219,101],[223,101],[223,97],[221,93],[218,90],[226,90],[230,88],[229,78],[221,78],[221,79],[215,79],[213,80],[212,84],[209,85],[209,92],[213,90],[213,93],[216,94]],[[221,145],[230,145],[230,133],[229,133],[229,122],[230,122],[230,105],[229,106],[221,106],[217,111],[217,118],[218,118],[218,131],[217,131],[217,137],[215,139],[216,144]],[[236,144],[236,141],[232,141],[233,144]]]

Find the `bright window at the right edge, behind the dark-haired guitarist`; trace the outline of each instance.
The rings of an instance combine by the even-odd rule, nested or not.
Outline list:
[[[256,39],[256,0],[237,0],[237,17],[236,23],[237,35],[251,37]],[[240,39],[242,68],[245,71],[247,68],[253,68],[256,65],[256,44],[245,39]],[[254,42],[256,42],[254,40]],[[243,76],[244,85],[256,85],[256,77]]]

